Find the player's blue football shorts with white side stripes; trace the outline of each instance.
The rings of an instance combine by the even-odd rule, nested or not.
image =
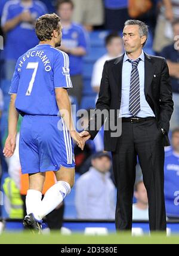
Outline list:
[[[57,171],[75,167],[73,141],[63,118],[24,115],[19,155],[22,173]]]

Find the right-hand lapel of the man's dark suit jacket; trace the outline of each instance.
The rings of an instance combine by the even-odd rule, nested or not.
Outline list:
[[[155,65],[153,64],[153,60],[149,55],[147,55],[146,53],[144,53],[144,55],[145,55],[144,93],[145,93],[145,96],[147,96],[147,92],[153,80],[153,75],[155,74]]]

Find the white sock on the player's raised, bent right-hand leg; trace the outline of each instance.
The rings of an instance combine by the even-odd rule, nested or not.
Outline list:
[[[70,185],[65,181],[58,181],[49,188],[39,208],[38,219],[42,220],[42,218],[57,208],[70,191]]]

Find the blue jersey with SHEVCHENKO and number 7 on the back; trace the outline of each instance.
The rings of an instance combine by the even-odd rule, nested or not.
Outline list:
[[[49,44],[39,44],[17,60],[10,94],[16,109],[31,115],[57,115],[55,88],[72,88],[69,57]]]

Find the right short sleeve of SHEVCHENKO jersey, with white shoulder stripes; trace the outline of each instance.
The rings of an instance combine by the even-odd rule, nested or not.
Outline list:
[[[54,63],[54,88],[72,88],[69,69],[69,56],[59,51]]]

